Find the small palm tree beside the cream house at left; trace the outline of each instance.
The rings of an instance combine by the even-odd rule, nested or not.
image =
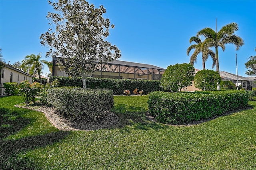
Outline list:
[[[25,59],[22,60],[21,62],[22,68],[26,68],[26,66],[30,66],[29,74],[33,74],[34,70],[37,71],[40,83],[42,83],[41,71],[44,68],[44,64],[46,64],[49,68],[51,66],[51,64],[48,61],[40,60],[41,57],[42,57],[41,53],[39,53],[38,55],[31,54],[29,56],[26,56]]]

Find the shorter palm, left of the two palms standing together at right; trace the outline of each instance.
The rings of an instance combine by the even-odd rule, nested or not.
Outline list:
[[[190,64],[194,65],[194,63],[196,63],[198,54],[200,52],[202,52],[203,70],[205,70],[205,62],[208,59],[209,55],[212,57],[212,61],[213,61],[212,68],[213,68],[215,66],[214,52],[212,50],[210,50],[209,48],[206,48],[206,46],[202,46],[203,42],[201,41],[200,38],[198,38],[196,36],[192,36],[189,40],[190,44],[193,41],[196,42],[197,44],[192,44],[191,46],[188,47],[188,50],[187,50],[187,55],[189,55],[190,51],[192,49],[195,49],[194,53],[190,57]]]

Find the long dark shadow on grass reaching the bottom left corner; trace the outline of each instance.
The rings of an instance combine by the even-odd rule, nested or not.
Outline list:
[[[68,136],[70,132],[58,131],[45,135],[30,136],[18,140],[0,140],[0,169],[5,170],[24,170],[40,169],[31,158],[22,156],[28,150],[60,142]]]

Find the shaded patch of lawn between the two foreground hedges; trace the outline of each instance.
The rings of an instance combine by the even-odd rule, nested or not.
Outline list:
[[[124,128],[128,126],[134,126],[136,129],[140,130],[149,130],[149,129],[162,129],[167,128],[168,126],[151,122],[146,118],[146,110],[143,107],[139,106],[127,106],[126,104],[117,104],[112,109],[119,120],[111,128]],[[124,128],[126,132],[130,132],[129,128]]]

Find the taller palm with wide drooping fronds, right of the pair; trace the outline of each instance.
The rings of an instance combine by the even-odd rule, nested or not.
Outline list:
[[[212,28],[204,28],[200,30],[196,36],[204,36],[206,39],[204,40],[202,46],[206,47],[215,47],[215,60],[216,60],[216,71],[220,72],[219,67],[219,56],[218,56],[218,47],[225,50],[226,44],[234,44],[236,50],[239,50],[240,46],[244,45],[244,40],[234,34],[235,31],[238,30],[238,25],[234,22],[223,26],[219,32],[215,32]]]

